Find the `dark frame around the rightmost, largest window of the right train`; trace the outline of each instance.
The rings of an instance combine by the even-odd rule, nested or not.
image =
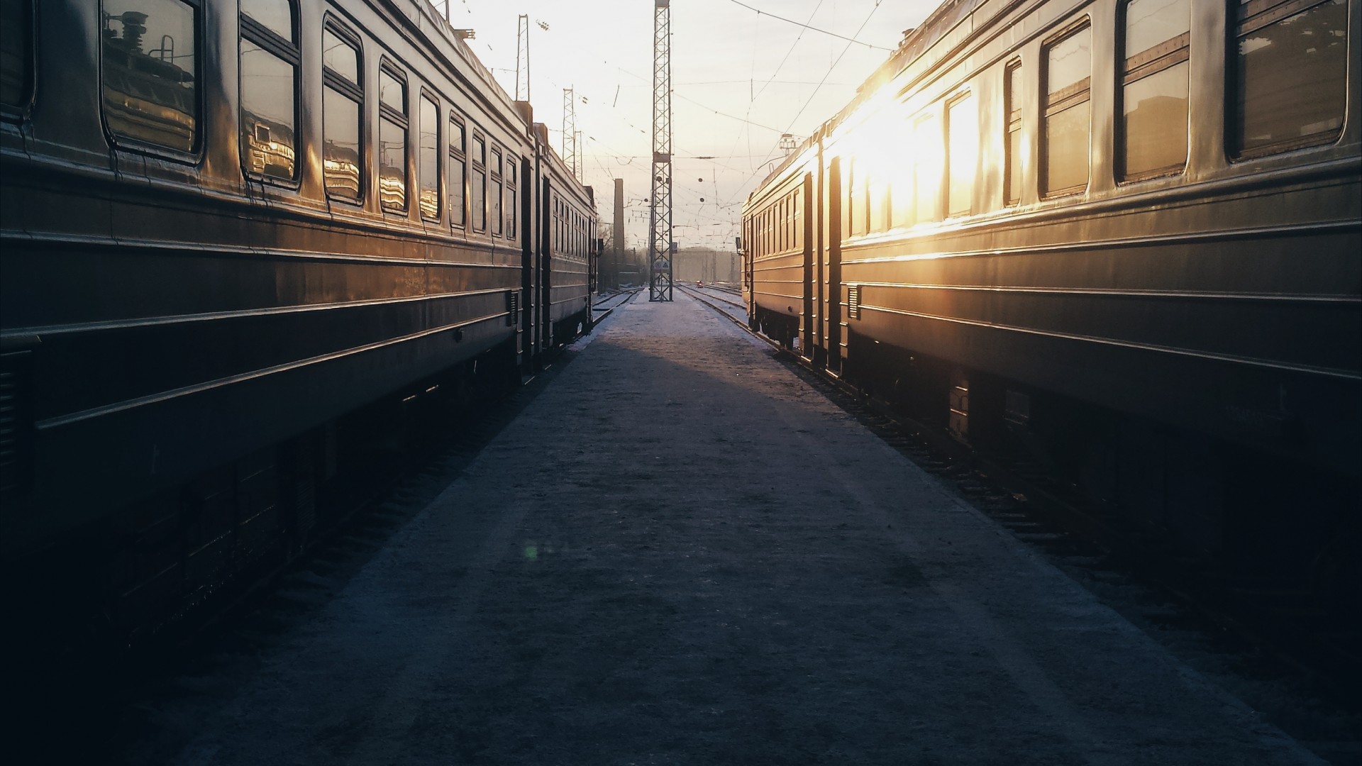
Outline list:
[[[1245,104],[1238,102],[1238,78],[1241,68],[1244,67],[1239,50],[1239,41],[1248,35],[1279,25],[1282,22],[1301,16],[1316,8],[1323,8],[1331,4],[1333,0],[1227,0],[1226,12],[1226,61],[1224,61],[1224,151],[1230,162],[1244,162],[1250,159],[1258,159],[1263,157],[1271,157],[1276,154],[1286,154],[1290,151],[1299,151],[1302,149],[1316,149],[1333,146],[1343,138],[1343,128],[1347,121],[1348,101],[1351,101],[1351,93],[1348,89],[1348,79],[1351,76],[1350,70],[1352,70],[1352,63],[1350,57],[1350,50],[1347,50],[1347,33],[1351,26],[1351,19],[1348,18],[1348,3],[1343,1],[1344,26],[1343,26],[1343,45],[1344,45],[1344,70],[1343,70],[1343,94],[1342,94],[1342,108],[1339,110],[1339,124],[1335,128],[1327,128],[1323,131],[1314,131],[1308,135],[1299,135],[1290,139],[1282,139],[1254,147],[1246,147],[1245,136]],[[1250,10],[1252,8],[1252,10]],[[1280,113],[1280,110],[1279,110]],[[1303,125],[1309,127],[1309,125]]]

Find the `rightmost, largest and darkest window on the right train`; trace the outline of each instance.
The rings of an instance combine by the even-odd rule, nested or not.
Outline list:
[[[1343,0],[1231,0],[1230,153],[1261,157],[1332,143],[1347,101]]]

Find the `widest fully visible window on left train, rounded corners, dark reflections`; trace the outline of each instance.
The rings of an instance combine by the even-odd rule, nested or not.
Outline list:
[[[114,139],[193,151],[199,128],[197,8],[108,0],[101,45],[104,119]]]

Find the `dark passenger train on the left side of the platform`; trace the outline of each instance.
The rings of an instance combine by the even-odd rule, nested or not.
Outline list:
[[[591,189],[425,0],[0,14],[7,562],[192,589],[305,533],[343,413],[590,327]]]

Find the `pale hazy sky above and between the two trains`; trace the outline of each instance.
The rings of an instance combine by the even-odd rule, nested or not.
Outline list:
[[[445,0],[432,1],[444,11]],[[938,4],[671,0],[673,239],[678,245],[731,249],[744,199],[783,157],[780,135],[808,138],[851,101],[903,30],[919,25]],[[582,132],[582,181],[595,188],[601,219],[610,222],[612,179],[624,179],[625,244],[646,248],[652,0],[448,0],[449,22],[474,30],[469,45],[512,97],[520,14],[530,18],[535,121],[549,127],[561,154],[563,91],[572,89]]]

